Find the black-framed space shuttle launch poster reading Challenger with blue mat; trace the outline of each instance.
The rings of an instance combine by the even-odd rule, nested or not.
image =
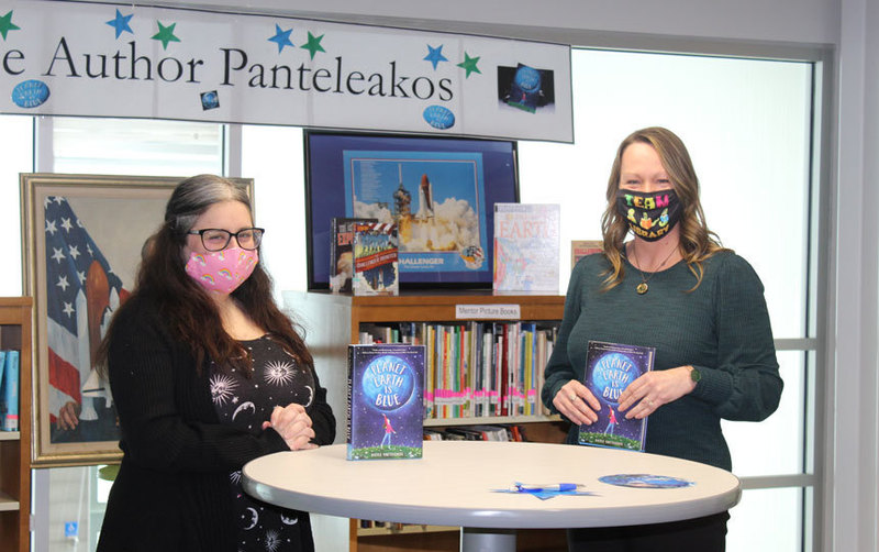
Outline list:
[[[401,187],[410,211],[400,287],[491,287],[494,203],[519,201],[516,142],[305,130],[304,151],[309,289],[330,288],[332,219],[380,212],[397,221]],[[443,218],[456,210],[464,213],[454,222]],[[456,231],[437,233],[448,224]],[[427,234],[435,238],[426,241]]]

